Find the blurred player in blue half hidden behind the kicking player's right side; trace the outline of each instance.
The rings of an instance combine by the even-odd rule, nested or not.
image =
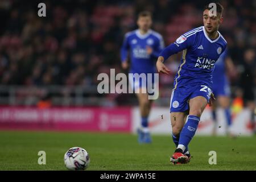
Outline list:
[[[213,88],[214,97],[217,98],[217,104],[225,112],[227,128],[226,133],[230,134],[230,126],[232,125],[232,117],[230,113],[230,86],[229,80],[226,76],[226,69],[229,71],[235,71],[232,59],[228,56],[227,49],[218,58],[216,64],[214,65],[213,71]],[[213,135],[216,134],[217,129],[217,115],[216,115],[216,102],[212,105],[212,117],[214,121]]]

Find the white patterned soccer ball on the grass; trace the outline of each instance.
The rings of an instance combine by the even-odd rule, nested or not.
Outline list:
[[[69,148],[64,155],[64,163],[69,170],[85,170],[90,163],[89,154],[81,147]]]

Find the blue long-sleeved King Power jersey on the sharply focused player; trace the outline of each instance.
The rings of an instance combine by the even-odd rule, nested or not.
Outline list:
[[[214,64],[226,49],[226,40],[218,32],[218,38],[208,37],[204,26],[194,28],[176,39],[161,53],[164,60],[183,50],[181,63],[175,76],[174,89],[195,82],[203,82],[212,88]]]

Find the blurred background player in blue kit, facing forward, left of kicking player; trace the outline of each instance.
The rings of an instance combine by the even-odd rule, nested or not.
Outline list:
[[[148,11],[138,15],[138,29],[128,32],[121,48],[122,68],[127,69],[128,51],[130,51],[130,73],[156,73],[155,63],[159,53],[164,48],[163,38],[160,34],[150,29],[152,17]],[[142,83],[142,80],[135,80],[129,77],[129,82],[137,93],[139,108],[141,111],[141,128],[138,129],[138,142],[151,143],[150,131],[148,129],[148,115],[150,114],[152,100],[148,100],[147,84],[154,84],[154,77],[151,83]]]

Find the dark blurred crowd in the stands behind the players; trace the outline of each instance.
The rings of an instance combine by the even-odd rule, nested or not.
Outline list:
[[[99,73],[121,69],[119,49],[127,31],[137,28],[137,14],[148,10],[153,27],[166,46],[203,23],[207,3],[178,0],[41,1],[46,17],[38,16],[37,1],[1,0],[0,85],[96,86]],[[236,70],[229,71],[232,97],[254,90],[256,1],[220,1],[224,23],[220,31],[228,42]],[[168,61],[172,76],[180,55]],[[173,77],[160,76],[160,97],[170,97]],[[250,87],[250,88],[248,88]],[[254,91],[253,91],[254,94]],[[127,97],[106,96],[118,104]],[[114,98],[113,98],[114,97]]]

